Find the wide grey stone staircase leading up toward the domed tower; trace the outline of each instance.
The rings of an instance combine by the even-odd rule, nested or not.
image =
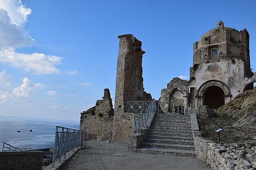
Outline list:
[[[190,116],[155,114],[145,141],[136,151],[195,157]]]

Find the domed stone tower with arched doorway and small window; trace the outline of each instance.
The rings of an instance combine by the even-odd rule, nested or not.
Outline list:
[[[249,33],[217,27],[204,33],[193,44],[193,67],[190,68],[192,103],[218,108],[251,86],[245,79],[250,69]]]

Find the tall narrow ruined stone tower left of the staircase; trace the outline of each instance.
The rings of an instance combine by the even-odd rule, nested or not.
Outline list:
[[[133,35],[120,35],[115,83],[113,141],[127,142],[131,134],[131,115],[126,113],[127,101],[151,100],[144,92],[142,78],[142,42]]]

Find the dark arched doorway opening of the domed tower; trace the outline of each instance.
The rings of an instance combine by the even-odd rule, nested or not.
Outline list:
[[[225,104],[224,91],[218,86],[210,86],[204,92],[204,105],[211,109],[217,109]]]

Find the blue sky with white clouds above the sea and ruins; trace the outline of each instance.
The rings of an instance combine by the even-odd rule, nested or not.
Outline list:
[[[145,91],[187,79],[193,43],[222,20],[246,28],[256,70],[256,1],[0,0],[0,115],[79,121],[110,89],[118,35],[142,41]]]

